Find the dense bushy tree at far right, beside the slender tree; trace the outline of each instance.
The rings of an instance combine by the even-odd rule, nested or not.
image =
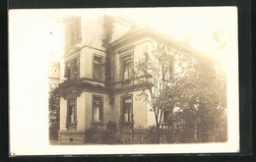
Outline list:
[[[227,131],[225,73],[206,57],[185,58],[180,60],[186,64],[182,70],[185,73],[174,78],[164,93],[169,98],[167,102],[178,109],[170,114],[173,132],[179,134],[176,135],[179,141],[184,134],[184,142],[224,141]]]

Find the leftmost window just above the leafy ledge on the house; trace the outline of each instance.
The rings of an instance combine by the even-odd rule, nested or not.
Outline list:
[[[65,77],[70,80],[79,79],[79,60],[78,58],[66,63]]]

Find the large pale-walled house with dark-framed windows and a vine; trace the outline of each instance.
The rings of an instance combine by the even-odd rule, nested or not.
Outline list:
[[[64,21],[65,52],[60,62],[61,141],[87,142],[87,130],[92,126],[105,130],[108,121],[114,121],[134,142],[142,140],[143,131],[155,124],[155,117],[147,102],[136,99],[139,91],[146,87],[145,76],[132,78],[132,65],[143,57],[145,50],[151,50],[158,39],[179,52],[191,52],[149,28],[114,18],[109,94],[104,84],[103,21],[103,17]]]

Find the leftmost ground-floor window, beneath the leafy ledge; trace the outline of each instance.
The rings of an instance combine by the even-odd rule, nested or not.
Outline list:
[[[67,124],[77,123],[77,103],[76,99],[72,98],[68,100],[68,110],[67,110]]]

